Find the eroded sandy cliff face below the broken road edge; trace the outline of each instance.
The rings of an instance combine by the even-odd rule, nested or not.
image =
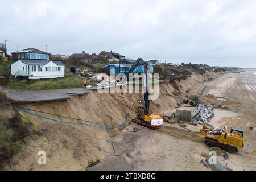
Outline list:
[[[150,109],[155,113],[171,109],[181,104],[188,94],[195,94],[202,86],[200,82],[218,76],[220,73],[209,72],[177,81],[179,93],[175,92],[174,86],[169,83],[160,84],[159,98],[151,101]],[[56,114],[38,113],[49,118],[72,122],[81,121],[71,118],[84,119],[96,122],[100,126],[114,127],[114,129],[61,123],[24,113],[36,129],[42,132],[42,136],[24,138],[22,149],[14,155],[4,169],[84,170],[90,163],[102,159],[102,154],[110,147],[108,139],[122,132],[118,129],[118,125],[124,121],[125,114],[129,114],[128,121],[135,117],[134,111],[123,104],[137,110],[138,101],[142,101],[143,104],[142,94],[122,94],[120,96],[119,94],[100,94],[97,91],[91,91],[66,101],[19,105],[27,109]],[[15,104],[9,103],[5,107],[9,108],[8,112],[15,113],[12,105]],[[5,113],[3,110],[2,108],[1,114]],[[6,117],[11,117],[11,114],[7,114]],[[46,152],[46,165],[38,164],[39,151]]]

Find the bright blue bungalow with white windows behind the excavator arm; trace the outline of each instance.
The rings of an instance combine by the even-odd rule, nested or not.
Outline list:
[[[106,65],[104,68],[106,69],[110,69],[110,72],[115,71],[115,73],[124,73],[127,74],[129,73],[131,66],[133,64],[109,64]],[[120,70],[120,72],[119,72]],[[134,69],[133,73],[143,73],[144,71],[144,66],[143,65],[139,65],[137,68]],[[153,65],[148,65],[148,73],[154,73],[154,66]]]

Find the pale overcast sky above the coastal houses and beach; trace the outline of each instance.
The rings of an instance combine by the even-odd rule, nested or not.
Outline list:
[[[0,43],[14,52],[118,52],[137,59],[256,67],[254,0],[1,1]],[[16,44],[15,44],[16,43]]]

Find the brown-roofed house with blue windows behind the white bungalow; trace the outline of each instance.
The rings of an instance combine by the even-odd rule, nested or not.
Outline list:
[[[16,51],[11,53],[13,61],[26,59],[26,60],[51,60],[52,54],[44,51],[40,51],[35,48],[23,49],[22,51]]]

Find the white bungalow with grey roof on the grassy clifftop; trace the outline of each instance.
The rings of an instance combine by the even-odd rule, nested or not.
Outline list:
[[[64,77],[64,64],[61,61],[20,59],[11,64],[11,75],[36,80]]]

